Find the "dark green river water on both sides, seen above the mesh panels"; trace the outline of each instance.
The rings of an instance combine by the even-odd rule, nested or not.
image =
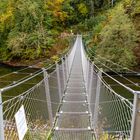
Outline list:
[[[28,68],[23,70],[24,67],[10,67],[6,65],[0,65],[0,88],[6,87],[8,85],[13,84],[14,82],[18,82],[21,79],[30,77],[31,74],[34,74],[39,71],[39,69],[35,68]],[[20,70],[20,71],[19,71]],[[14,71],[19,71],[18,73],[13,73]],[[9,74],[10,73],[10,74]],[[8,75],[6,75],[8,74]],[[3,77],[3,75],[6,75]],[[140,86],[140,75],[123,75],[124,77],[128,78],[129,80],[133,81],[134,83],[138,83]],[[128,82],[124,78],[120,76],[113,76],[115,79],[119,80],[121,83],[125,84],[126,86],[134,89],[139,90],[140,87],[133,85],[132,83]],[[28,90],[30,87],[34,86],[36,83],[38,83],[43,78],[43,75],[40,74],[37,77],[29,80],[26,83],[21,84],[20,86],[17,86],[16,88],[13,88],[7,92],[4,93],[4,100],[7,98],[10,98],[10,96],[16,96],[18,94],[21,94],[22,92]],[[104,76],[104,79],[107,81],[107,83],[120,95],[122,95],[125,98],[128,98],[129,100],[133,99],[133,94],[124,89],[122,86],[118,85],[115,81],[113,81],[110,78],[107,78]],[[9,97],[8,97],[9,96]]]

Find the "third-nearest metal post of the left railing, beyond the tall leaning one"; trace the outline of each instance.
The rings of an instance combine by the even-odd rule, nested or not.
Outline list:
[[[59,65],[58,65],[58,63],[56,63],[56,73],[57,73],[59,100],[61,101],[62,91],[61,91],[61,81],[60,81],[60,73],[59,73]]]

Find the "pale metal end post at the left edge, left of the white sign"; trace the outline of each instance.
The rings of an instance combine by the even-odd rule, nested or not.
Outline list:
[[[3,121],[3,105],[2,105],[2,91],[0,89],[0,140],[4,140],[4,121]]]

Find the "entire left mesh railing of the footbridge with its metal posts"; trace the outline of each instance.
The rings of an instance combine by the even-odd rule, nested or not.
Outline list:
[[[18,140],[17,124],[15,114],[21,106],[24,106],[28,132],[25,140],[46,139],[52,128],[56,112],[61,103],[64,93],[66,79],[66,61],[62,58],[60,64],[56,63],[55,70],[47,74],[48,69],[42,69],[36,76],[32,76],[17,85],[11,85],[1,89],[1,140]],[[53,67],[54,67],[53,66]],[[65,73],[64,73],[65,72]],[[25,92],[20,92],[15,96],[11,93],[19,90],[18,86],[22,84],[32,83],[33,78],[40,75],[40,82],[31,86]],[[64,76],[65,75],[65,76]],[[43,78],[44,76],[44,78]],[[65,78],[65,79],[64,79]],[[11,90],[11,91],[10,91]],[[10,95],[9,95],[9,94]],[[9,95],[9,96],[8,96]],[[3,134],[2,134],[3,133]]]

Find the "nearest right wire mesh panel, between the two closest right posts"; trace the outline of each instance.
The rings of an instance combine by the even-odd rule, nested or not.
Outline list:
[[[130,138],[132,109],[130,101],[119,96],[108,85],[101,81],[98,104],[97,133],[100,131]]]

